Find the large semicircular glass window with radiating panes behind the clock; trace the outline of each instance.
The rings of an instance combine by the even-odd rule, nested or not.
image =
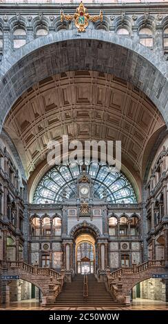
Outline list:
[[[103,199],[106,193],[109,203],[137,203],[132,184],[122,172],[110,170],[108,165],[87,165],[94,185],[94,197]],[[34,192],[33,203],[59,203],[76,198],[76,179],[81,174],[81,165],[54,166],[41,179]]]

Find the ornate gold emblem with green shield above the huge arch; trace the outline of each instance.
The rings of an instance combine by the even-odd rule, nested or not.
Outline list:
[[[89,25],[89,21],[92,21],[93,23],[100,19],[100,21],[103,21],[103,12],[100,11],[100,14],[98,16],[90,16],[87,12],[87,8],[85,8],[83,2],[81,1],[78,8],[76,8],[75,14],[63,14],[63,10],[61,10],[61,22],[63,20],[72,21],[74,19],[74,23],[76,28],[78,28],[78,32],[85,32],[85,28]]]

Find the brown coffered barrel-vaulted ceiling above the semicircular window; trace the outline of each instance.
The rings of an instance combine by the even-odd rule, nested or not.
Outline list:
[[[48,141],[122,142],[123,163],[139,175],[145,146],[165,125],[160,112],[134,85],[111,74],[76,71],[39,81],[14,104],[4,128],[28,176],[46,159]]]

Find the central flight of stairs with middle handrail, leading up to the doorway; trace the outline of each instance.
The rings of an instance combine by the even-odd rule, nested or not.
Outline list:
[[[88,275],[88,296],[83,297],[83,275],[78,274],[72,283],[65,283],[61,294],[56,298],[55,306],[59,307],[111,307],[118,305],[107,292],[105,283],[96,280],[93,274]]]

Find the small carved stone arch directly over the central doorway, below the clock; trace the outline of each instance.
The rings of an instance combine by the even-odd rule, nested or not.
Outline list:
[[[70,236],[73,239],[76,239],[76,236],[79,234],[86,232],[89,234],[92,234],[95,239],[97,239],[99,236],[101,236],[101,232],[98,230],[98,227],[91,223],[87,223],[87,221],[83,221],[83,223],[80,223],[78,225],[75,225],[72,227],[72,230],[70,231]]]

